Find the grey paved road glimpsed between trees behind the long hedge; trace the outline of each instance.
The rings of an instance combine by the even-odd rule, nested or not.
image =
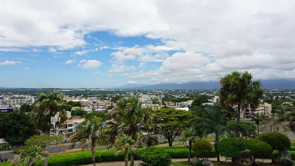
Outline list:
[[[166,139],[159,139],[159,142],[163,142]],[[50,147],[50,153],[59,153],[59,152],[64,152],[65,150],[68,150],[69,145],[66,146],[59,146],[58,147]],[[76,145],[73,149],[79,149],[80,146]],[[97,148],[96,150],[104,150],[107,149],[106,147],[102,147],[102,148]],[[10,153],[10,151],[0,151],[0,156],[2,157],[2,159],[7,158],[7,159],[13,159],[15,154]]]

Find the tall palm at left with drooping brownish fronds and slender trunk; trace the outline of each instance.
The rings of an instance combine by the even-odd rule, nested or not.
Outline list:
[[[66,104],[62,102],[62,96],[57,91],[49,92],[46,95],[40,93],[36,103],[33,104],[33,119],[35,126],[44,134],[47,134],[46,151],[49,151],[50,129],[52,127],[52,118],[58,114],[59,122],[66,120]],[[48,165],[48,159],[45,160],[44,166]]]

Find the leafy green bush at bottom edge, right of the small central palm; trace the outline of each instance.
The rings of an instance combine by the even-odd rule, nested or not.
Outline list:
[[[172,163],[169,154],[155,148],[145,149],[141,154],[141,159],[151,166],[169,166]]]

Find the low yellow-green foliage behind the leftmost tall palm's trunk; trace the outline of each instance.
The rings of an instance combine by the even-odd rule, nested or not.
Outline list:
[[[50,144],[51,145],[58,145],[62,141],[63,137],[58,135],[51,135],[50,136]],[[37,145],[42,148],[46,147],[47,135],[33,135],[30,136],[28,140],[26,140],[26,145],[33,146]]]

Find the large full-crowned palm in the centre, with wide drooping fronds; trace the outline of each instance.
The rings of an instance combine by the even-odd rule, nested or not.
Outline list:
[[[157,137],[149,134],[159,129],[157,125],[152,124],[152,109],[142,107],[142,102],[136,97],[121,98],[107,113],[107,117],[111,119],[107,124],[111,127],[113,136],[126,134],[139,144],[148,146],[158,144]],[[133,151],[131,151],[130,166],[134,166]]]

